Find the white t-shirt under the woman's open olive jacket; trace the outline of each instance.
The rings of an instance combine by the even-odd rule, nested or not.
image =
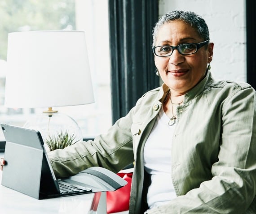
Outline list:
[[[144,167],[151,175],[147,194],[150,209],[176,197],[171,175],[171,147],[175,124],[169,126],[169,120],[162,108],[144,148]]]

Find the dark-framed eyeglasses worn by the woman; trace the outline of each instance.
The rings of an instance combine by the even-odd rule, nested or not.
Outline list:
[[[160,57],[171,56],[175,49],[177,49],[177,51],[179,51],[181,55],[190,55],[190,54],[196,53],[200,47],[203,47],[208,42],[209,40],[206,40],[202,43],[186,43],[186,44],[180,44],[178,46],[161,45],[161,46],[152,47],[152,49],[154,54]]]

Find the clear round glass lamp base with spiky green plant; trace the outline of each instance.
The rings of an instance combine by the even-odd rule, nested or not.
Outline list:
[[[33,116],[24,128],[38,130],[46,150],[63,149],[83,140],[81,129],[70,116],[59,112],[43,112]]]

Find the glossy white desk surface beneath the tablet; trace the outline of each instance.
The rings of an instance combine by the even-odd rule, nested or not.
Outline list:
[[[4,153],[0,152],[0,157],[4,157]],[[0,171],[0,181],[1,180],[2,171]],[[0,185],[0,213],[106,214],[106,193],[90,193],[37,200]]]

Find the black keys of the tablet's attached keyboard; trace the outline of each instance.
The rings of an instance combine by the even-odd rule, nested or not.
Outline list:
[[[69,184],[64,181],[58,181],[59,188],[60,188],[60,194],[70,194],[70,193],[90,193],[92,192],[91,188],[79,186],[76,184]]]

